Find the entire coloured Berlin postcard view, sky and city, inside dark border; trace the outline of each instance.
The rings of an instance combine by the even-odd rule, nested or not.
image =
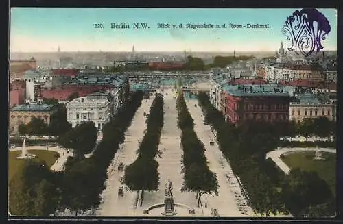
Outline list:
[[[336,215],[335,10],[305,53],[304,9],[204,12],[11,10],[11,219]]]

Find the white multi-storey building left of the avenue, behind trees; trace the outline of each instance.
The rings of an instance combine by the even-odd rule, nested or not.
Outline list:
[[[101,130],[110,121],[110,102],[107,99],[79,97],[67,103],[67,121],[72,127],[84,121],[93,121]]]

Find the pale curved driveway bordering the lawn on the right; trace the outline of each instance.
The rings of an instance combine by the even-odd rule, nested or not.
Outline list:
[[[335,149],[326,149],[326,148],[281,148],[274,151],[270,151],[265,155],[265,158],[272,158],[277,166],[285,173],[288,174],[291,169],[283,162],[280,158],[281,155],[285,153],[290,153],[294,151],[322,151],[325,153],[336,153]]]

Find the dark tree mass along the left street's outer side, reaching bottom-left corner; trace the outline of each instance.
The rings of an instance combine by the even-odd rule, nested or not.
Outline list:
[[[105,188],[108,166],[119,149],[119,144],[123,143],[126,129],[131,125],[142,99],[143,92],[135,92],[131,101],[119,110],[117,116],[104,125],[103,140],[90,158],[69,157],[64,164],[64,171],[56,173],[45,164],[25,160],[25,167],[19,169],[10,182],[10,213],[49,216],[56,210],[64,212],[69,208],[78,215],[90,208],[97,208],[101,201],[100,194]],[[66,146],[73,144],[76,151],[84,152],[84,149],[91,147],[82,141],[95,145],[95,126],[94,123],[84,123],[80,126],[61,136],[61,139],[67,139],[64,142]],[[80,140],[76,139],[76,136]]]

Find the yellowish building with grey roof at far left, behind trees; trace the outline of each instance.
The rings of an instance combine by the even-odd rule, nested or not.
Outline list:
[[[10,132],[18,132],[18,127],[22,123],[27,124],[32,117],[43,119],[45,123],[51,122],[51,115],[56,113],[55,105],[43,103],[25,103],[16,105],[10,109]]]

